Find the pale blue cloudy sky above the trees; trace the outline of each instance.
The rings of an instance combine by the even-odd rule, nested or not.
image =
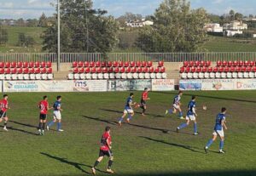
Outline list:
[[[57,0],[0,0],[0,19],[38,18],[55,13],[50,3]],[[95,9],[106,9],[115,17],[131,12],[134,14],[154,14],[163,0],[93,0]],[[212,14],[226,14],[234,9],[241,14],[256,15],[256,0],[190,0],[193,9],[207,9]]]

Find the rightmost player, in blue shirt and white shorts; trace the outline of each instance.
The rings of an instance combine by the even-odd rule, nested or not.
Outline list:
[[[225,124],[225,114],[226,114],[227,109],[222,108],[221,112],[217,115],[216,117],[216,122],[215,122],[215,127],[214,127],[214,132],[212,133],[212,139],[210,139],[207,143],[207,146],[205,146],[205,151],[206,153],[208,152],[209,147],[212,145],[212,143],[217,139],[217,136],[220,138],[220,143],[219,143],[219,153],[225,153],[223,150],[224,147],[224,130],[228,129],[226,124]]]

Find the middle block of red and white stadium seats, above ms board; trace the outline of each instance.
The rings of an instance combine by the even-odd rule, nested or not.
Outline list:
[[[69,80],[90,79],[166,79],[166,68],[163,61],[156,67],[152,61],[106,61],[106,62],[73,62]]]

